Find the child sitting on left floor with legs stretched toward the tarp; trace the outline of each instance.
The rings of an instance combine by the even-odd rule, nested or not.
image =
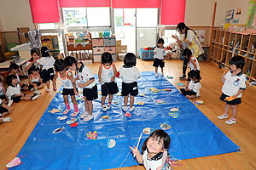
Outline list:
[[[20,92],[20,85],[18,83],[18,79],[15,75],[9,75],[6,77],[6,83],[9,85],[6,91],[6,95],[9,99],[12,99],[15,103],[20,102],[21,99],[29,100],[29,99],[38,99],[40,95],[38,94],[23,94]]]

